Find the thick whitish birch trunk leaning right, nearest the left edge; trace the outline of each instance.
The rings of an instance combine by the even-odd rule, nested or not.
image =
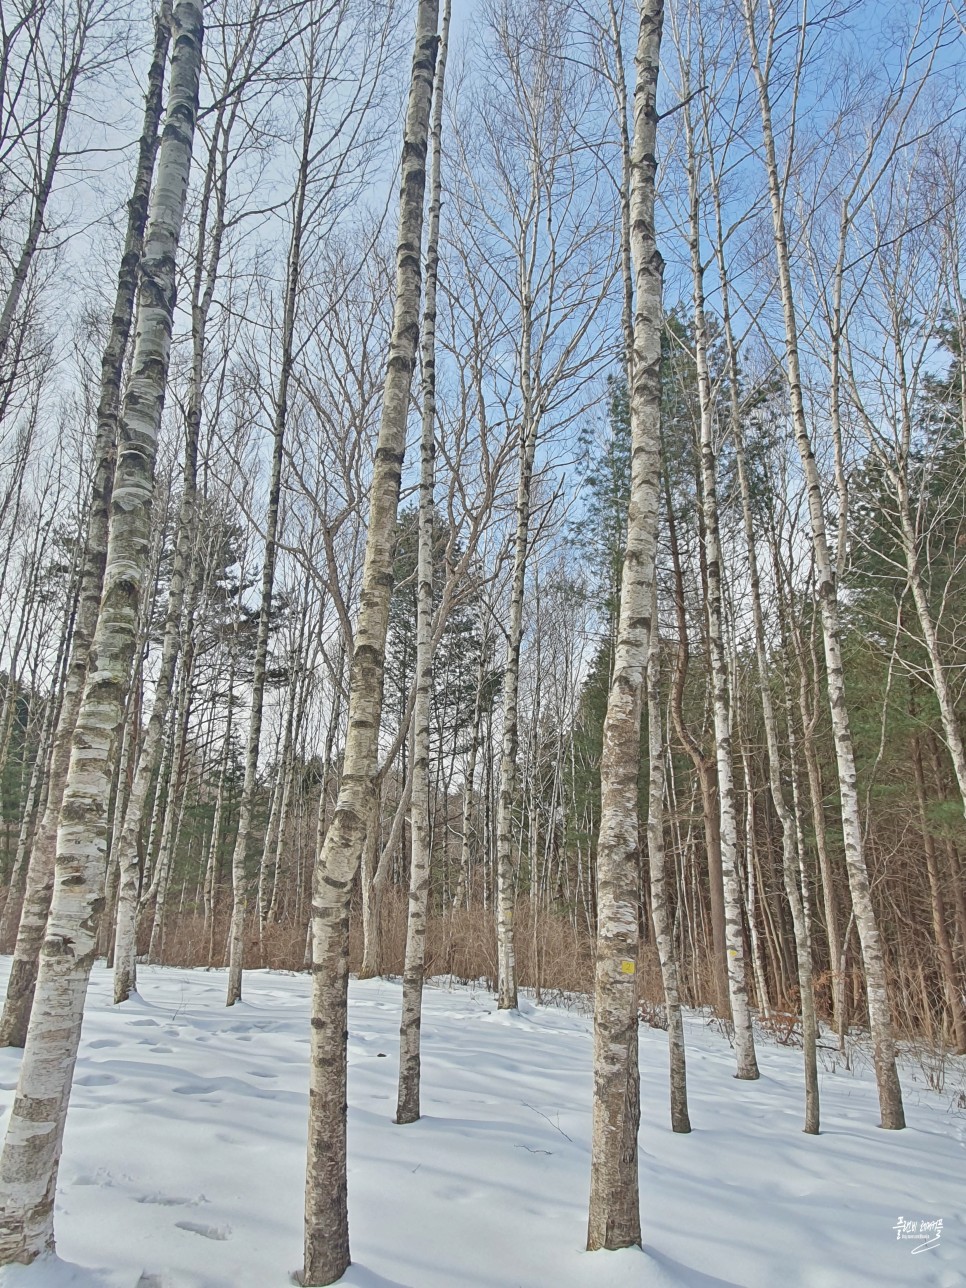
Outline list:
[[[116,730],[130,683],[151,536],[153,466],[175,303],[175,258],[201,72],[201,9],[178,0],[167,116],[142,259],[138,331],[120,417],[100,612],[57,840],[55,889],[14,1108],[0,1157],[0,1264],[54,1245],[54,1197],[84,999],[103,907]]]

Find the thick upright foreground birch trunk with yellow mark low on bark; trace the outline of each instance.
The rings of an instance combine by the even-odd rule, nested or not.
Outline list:
[[[640,1245],[638,938],[640,720],[652,630],[661,470],[663,264],[654,240],[657,79],[663,0],[644,0],[636,52],[630,236],[636,307],[631,493],[614,671],[604,719],[594,979],[594,1115],[587,1248]]]

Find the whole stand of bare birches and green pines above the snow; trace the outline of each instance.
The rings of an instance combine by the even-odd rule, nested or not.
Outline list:
[[[412,22],[415,8],[415,43]],[[137,6],[135,6],[137,9]],[[346,981],[966,1051],[966,19],[916,0],[109,0],[0,30],[0,1262],[53,1245],[86,981]],[[143,103],[143,106],[142,106]],[[726,1095],[723,1088],[723,1095]],[[43,1113],[37,1105],[45,1106]]]

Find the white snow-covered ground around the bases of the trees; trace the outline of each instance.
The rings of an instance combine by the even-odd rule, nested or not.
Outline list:
[[[3,962],[0,985],[8,961]],[[24,1288],[286,1288],[301,1261],[307,976],[144,967],[112,1007],[98,966],[58,1191],[63,1262]],[[822,1135],[801,1132],[801,1054],[762,1043],[761,1081],[688,1023],[690,1136],[667,1124],[666,1036],[640,1036],[644,1253],[582,1251],[591,1041],[586,1015],[495,1011],[426,990],[421,1122],[397,1127],[399,985],[353,981],[353,1288],[838,1288],[966,1285],[966,1109],[905,1068],[909,1130],[877,1126],[871,1075],[822,1074]],[[18,1052],[0,1051],[10,1105]],[[962,1068],[956,1078],[962,1077]],[[0,1124],[1,1127],[3,1124]],[[939,1242],[898,1238],[942,1220]],[[72,1265],[71,1265],[72,1264]],[[85,1273],[79,1267],[88,1267]]]

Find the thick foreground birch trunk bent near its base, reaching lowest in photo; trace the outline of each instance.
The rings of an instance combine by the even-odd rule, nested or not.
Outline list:
[[[334,1283],[349,1265],[345,1158],[349,900],[366,840],[377,768],[393,533],[406,455],[420,322],[420,251],[438,0],[419,0],[403,129],[395,300],[379,443],[370,489],[362,591],[349,676],[343,781],[313,881],[312,1046],[303,1283]]]

